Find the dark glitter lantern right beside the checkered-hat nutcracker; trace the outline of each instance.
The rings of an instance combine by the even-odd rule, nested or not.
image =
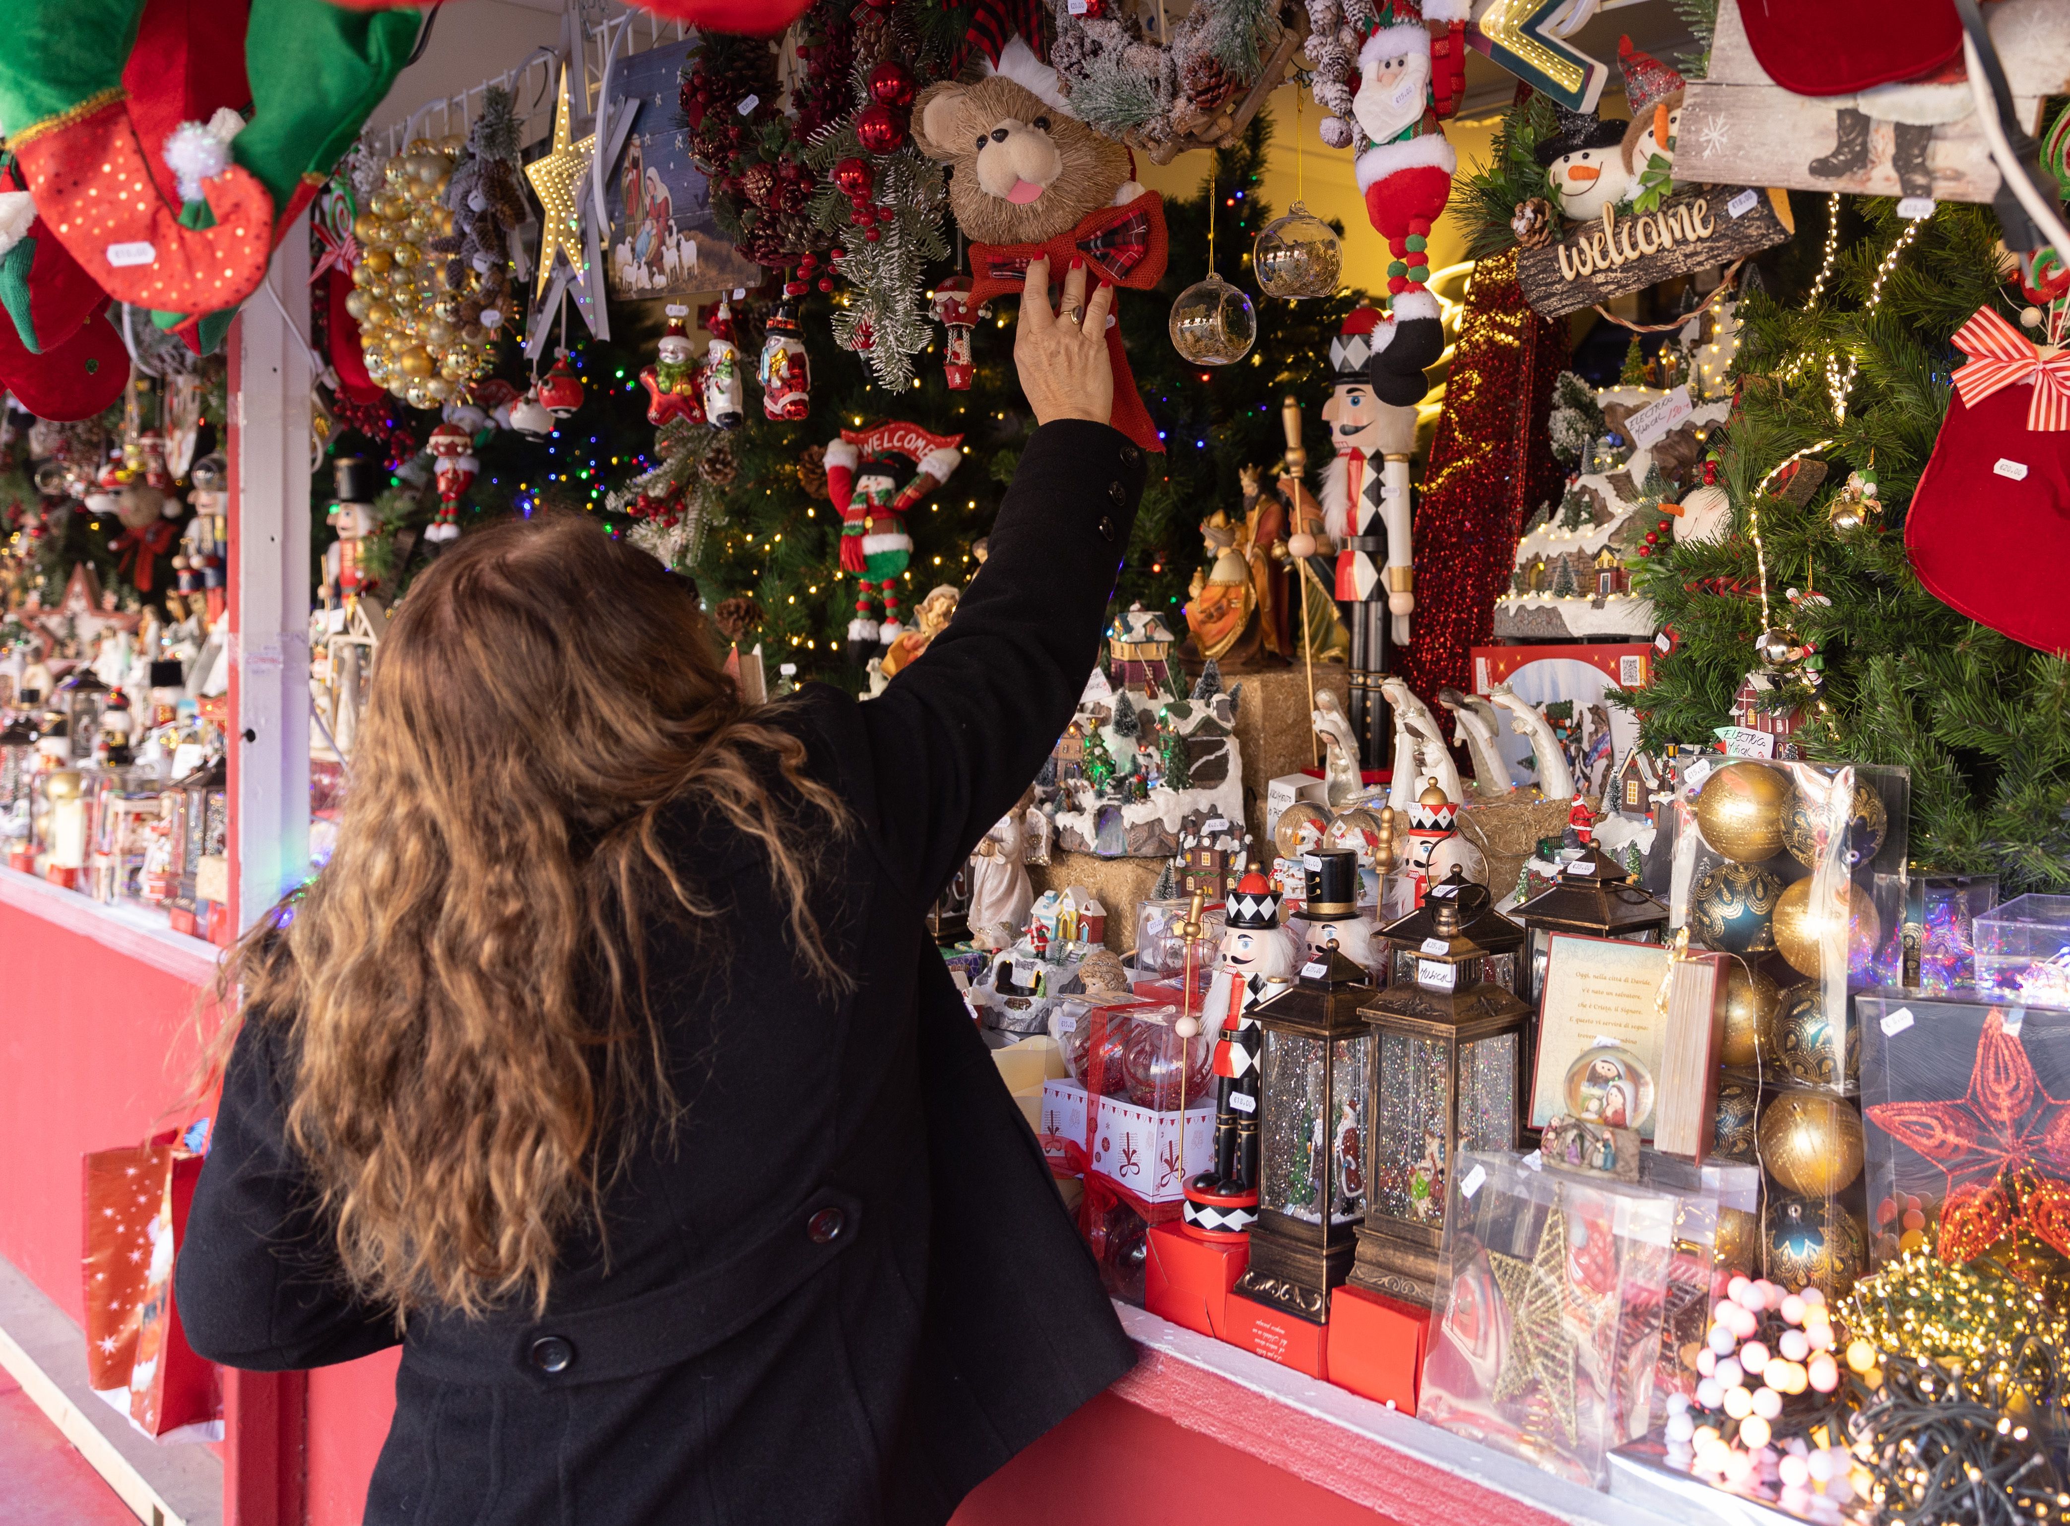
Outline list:
[[[1259,1097],[1259,1222],[1236,1292],[1312,1325],[1352,1269],[1366,1213],[1372,1000],[1366,971],[1341,948],[1273,979],[1259,1002],[1265,1029]]]

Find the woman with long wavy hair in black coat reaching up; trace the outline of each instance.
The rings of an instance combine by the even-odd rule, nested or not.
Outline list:
[[[1143,485],[1112,294],[1029,271],[1037,431],[876,700],[747,706],[586,520],[383,646],[325,872],[236,948],[193,1346],[402,1346],[366,1520],[944,1522],[1132,1360],[921,913],[1091,671]]]

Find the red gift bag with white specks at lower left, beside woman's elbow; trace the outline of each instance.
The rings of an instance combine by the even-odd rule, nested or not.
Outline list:
[[[186,1344],[172,1300],[172,1265],[201,1178],[201,1153],[168,1133],[147,1145],[95,1151],[83,1166],[93,1389],[151,1437],[182,1427],[219,1431],[219,1375]],[[197,1439],[217,1437],[197,1433]]]

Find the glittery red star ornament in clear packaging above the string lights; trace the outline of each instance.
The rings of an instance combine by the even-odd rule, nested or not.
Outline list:
[[[2070,1255],[2070,1102],[2041,1089],[2018,1035],[1993,1010],[1960,1102],[1882,1102],[1869,1120],[1948,1176],[1944,1261],[1973,1261],[2024,1222]],[[2014,1186],[2020,1191],[2014,1193]]]

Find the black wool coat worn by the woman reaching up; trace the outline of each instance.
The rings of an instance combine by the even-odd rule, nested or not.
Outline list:
[[[921,913],[1070,721],[1143,472],[1105,424],[1035,431],[925,658],[863,704],[811,685],[776,706],[855,818],[818,903],[853,992],[795,967],[749,845],[673,822],[731,897],[722,975],[650,938],[687,1120],[613,1186],[609,1255],[563,1249],[544,1317],[408,1321],[368,1522],[934,1524],[1128,1371]],[[230,1367],[397,1342],[342,1288],[284,1143],[292,1044],[292,1023],[240,1035],[176,1267],[188,1340]]]

